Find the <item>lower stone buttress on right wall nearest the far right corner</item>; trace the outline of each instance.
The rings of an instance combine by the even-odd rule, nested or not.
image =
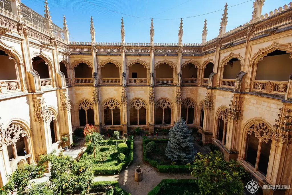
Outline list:
[[[207,95],[204,101],[204,124],[202,131],[202,141],[204,144],[212,143],[212,123],[213,123],[213,92],[207,89]]]

